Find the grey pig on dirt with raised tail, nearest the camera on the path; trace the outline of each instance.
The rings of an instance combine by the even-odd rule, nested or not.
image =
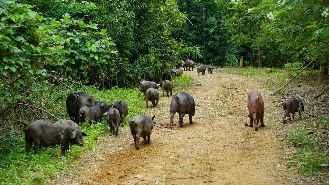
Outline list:
[[[131,134],[134,138],[135,147],[139,150],[139,139],[142,137],[144,139],[144,143],[146,144],[146,136],[147,143],[151,143],[151,132],[153,129],[153,120],[155,116],[152,118],[147,114],[141,114],[134,116],[129,121],[129,127]]]

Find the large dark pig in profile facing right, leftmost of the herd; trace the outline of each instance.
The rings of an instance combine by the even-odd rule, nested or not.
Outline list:
[[[70,125],[52,124],[41,120],[32,122],[24,129],[24,132],[26,152],[29,153],[31,151],[33,143],[35,154],[38,154],[39,147],[50,147],[60,144],[62,155],[65,155],[65,151],[69,150],[69,143],[82,147],[82,136],[87,136],[79,128]]]

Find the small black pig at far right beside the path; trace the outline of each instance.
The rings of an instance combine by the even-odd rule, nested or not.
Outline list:
[[[283,124],[286,123],[286,117],[290,117],[290,113],[292,114],[292,119],[295,118],[295,112],[299,112],[299,118],[302,119],[302,114],[300,110],[305,111],[304,104],[301,100],[291,99],[287,102],[282,103],[283,109],[285,109],[285,115],[283,116]]]

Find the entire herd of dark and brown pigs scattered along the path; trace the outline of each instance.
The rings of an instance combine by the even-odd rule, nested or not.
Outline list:
[[[166,92],[167,97],[172,96],[173,83],[171,82],[171,75],[180,76],[183,70],[190,71],[190,68],[195,67],[195,63],[192,60],[181,60],[170,73],[163,74],[162,81],[162,96]],[[208,73],[212,74],[213,66],[200,65],[197,67],[198,74],[204,75],[206,68]],[[155,107],[159,102],[159,91],[157,84],[154,81],[141,81],[139,82],[139,94],[144,93],[144,100],[146,100],[146,108],[148,108],[148,102],[152,102],[152,106]],[[35,154],[38,154],[38,148],[49,147],[59,145],[61,147],[62,155],[65,152],[69,152],[69,143],[83,146],[82,137],[87,134],[78,128],[78,124],[83,122],[91,123],[94,120],[96,123],[101,121],[103,117],[106,118],[110,127],[110,132],[113,131],[114,135],[118,136],[118,127],[120,123],[124,122],[124,118],[128,115],[127,103],[120,99],[114,104],[109,104],[96,100],[88,93],[85,92],[72,92],[66,99],[67,113],[71,120],[62,120],[55,123],[49,123],[47,121],[36,120],[30,123],[28,127],[24,129],[26,140],[26,152],[31,151],[32,144]],[[286,123],[286,117],[294,118],[295,112],[300,110],[304,111],[303,103],[298,99],[291,99],[283,103],[285,115],[283,123]],[[193,97],[189,93],[177,93],[171,99],[170,104],[170,122],[169,125],[173,125],[173,119],[176,113],[179,114],[179,125],[183,127],[183,118],[186,114],[189,115],[189,122],[193,124],[192,116],[195,113],[195,106],[199,106],[194,102]],[[112,109],[110,109],[113,107]],[[255,131],[258,131],[258,123],[261,122],[261,127],[264,125],[264,101],[262,95],[259,92],[253,91],[247,98],[247,107],[249,110],[250,127],[253,127]],[[139,150],[139,139],[142,137],[145,144],[151,143],[151,131],[153,129],[153,121],[155,115],[151,118],[149,115],[141,114],[134,116],[129,121],[129,127],[131,134],[134,138],[134,144],[137,150]]]

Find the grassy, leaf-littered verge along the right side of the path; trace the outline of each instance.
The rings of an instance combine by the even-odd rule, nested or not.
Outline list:
[[[278,68],[253,68],[245,67],[239,68],[223,68],[222,71],[228,74],[245,75],[257,81],[265,81],[266,88],[269,90],[277,90],[284,85],[292,75],[296,74],[299,70],[291,71],[291,76],[288,76],[287,69]],[[318,101],[321,99],[314,99],[313,97],[319,92],[314,91],[321,89],[317,86],[317,70],[303,71],[297,78],[291,82],[290,86],[281,90],[276,96],[282,99],[289,99],[290,97],[308,97],[307,104],[308,111],[310,109],[323,112],[321,109],[326,109],[324,106],[319,108]],[[322,84],[322,89],[326,89],[325,83]],[[298,86],[298,89],[296,89]],[[319,85],[320,86],[320,85]],[[307,89],[301,92],[301,89]],[[316,90],[315,90],[316,89]],[[294,94],[299,92],[304,95]],[[311,93],[312,92],[312,93]],[[315,93],[315,94],[314,94]],[[325,99],[325,98],[322,98]],[[321,110],[321,111],[320,111]],[[324,110],[328,112],[328,110]],[[305,114],[303,113],[303,118]],[[299,174],[304,176],[312,176],[314,178],[328,179],[329,167],[329,116],[327,114],[307,117],[287,131],[286,144],[292,147],[292,156],[287,161],[289,170],[296,170]],[[325,181],[325,180],[324,180]]]

